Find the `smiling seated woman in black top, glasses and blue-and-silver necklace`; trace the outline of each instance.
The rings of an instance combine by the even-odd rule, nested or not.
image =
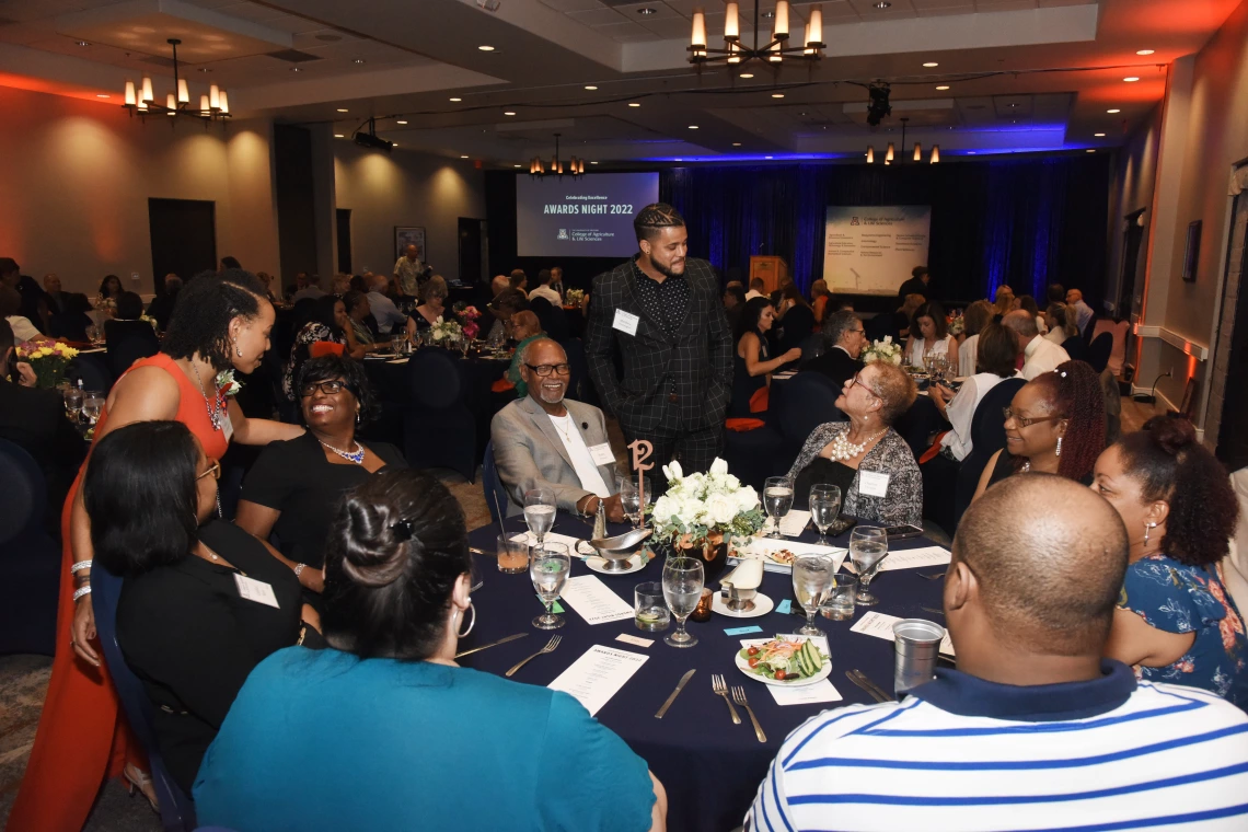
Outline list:
[[[300,583],[318,593],[326,534],[343,493],[407,460],[394,445],[357,439],[378,412],[359,362],[311,358],[300,367],[297,390],[307,433],[261,452],[243,479],[235,521],[261,540],[276,534]]]

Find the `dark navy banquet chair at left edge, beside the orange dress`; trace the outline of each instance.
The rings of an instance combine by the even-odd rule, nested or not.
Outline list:
[[[44,473],[24,448],[0,439],[0,655],[51,656],[61,550],[44,526]]]

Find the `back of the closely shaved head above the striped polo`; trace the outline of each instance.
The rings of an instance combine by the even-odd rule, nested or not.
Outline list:
[[[1022,474],[990,488],[962,516],[951,570],[960,564],[973,588],[962,609],[950,609],[955,637],[963,616],[977,616],[1016,654],[1099,656],[1127,569],[1127,530],[1112,505],[1078,483]],[[947,607],[950,595],[946,584]]]

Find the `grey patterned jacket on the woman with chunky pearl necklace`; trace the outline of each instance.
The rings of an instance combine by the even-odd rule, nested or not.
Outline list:
[[[837,434],[849,430],[849,422],[825,422],[815,428],[801,453],[789,469],[789,478],[796,481],[797,474],[809,465],[824,447]],[[884,525],[924,524],[924,478],[919,473],[915,453],[901,435],[889,428],[889,433],[866,453],[859,463],[859,472],[876,472],[889,475],[889,488],[885,496],[870,496],[859,493],[859,474],[841,499],[841,513],[860,520],[871,520]]]

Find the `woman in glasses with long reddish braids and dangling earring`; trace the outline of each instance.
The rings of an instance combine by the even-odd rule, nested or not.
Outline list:
[[[1092,483],[1092,465],[1104,450],[1104,399],[1096,370],[1083,362],[1066,362],[1037,375],[1015,393],[1005,417],[1006,447],[983,467],[972,501],[1017,473]]]

